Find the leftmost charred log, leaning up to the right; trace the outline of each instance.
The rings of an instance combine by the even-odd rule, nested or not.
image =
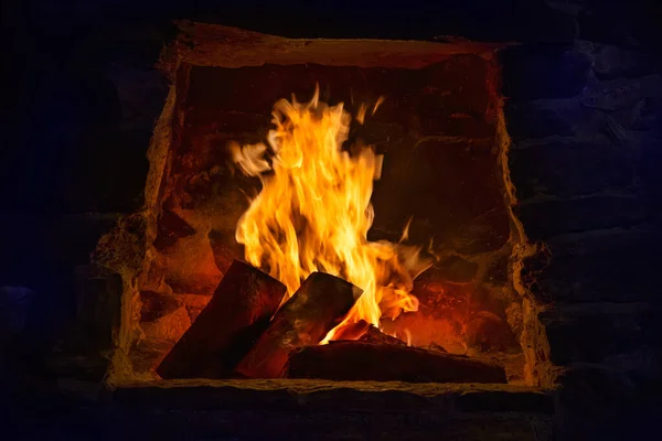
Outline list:
[[[269,325],[285,284],[239,260],[157,368],[162,378],[227,378]]]

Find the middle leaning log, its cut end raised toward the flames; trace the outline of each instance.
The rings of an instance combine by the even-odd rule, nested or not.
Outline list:
[[[311,273],[239,362],[237,373],[248,378],[282,377],[290,353],[321,342],[342,322],[361,293],[343,279]]]

